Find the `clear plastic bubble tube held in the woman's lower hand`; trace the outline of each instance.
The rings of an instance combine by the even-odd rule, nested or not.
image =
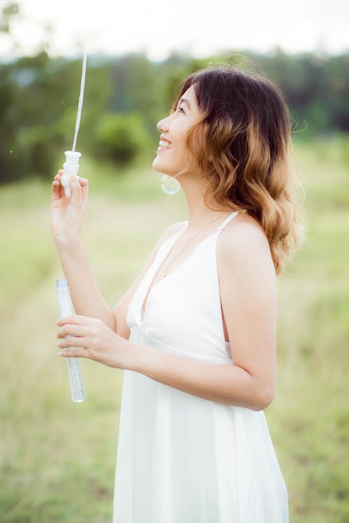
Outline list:
[[[56,292],[59,317],[63,318],[64,316],[70,316],[70,314],[74,314],[67,280],[56,280]],[[67,347],[66,351],[71,349],[74,349],[74,347]],[[82,383],[80,358],[66,358],[66,363],[68,366],[70,391],[73,402],[83,402],[84,385]]]

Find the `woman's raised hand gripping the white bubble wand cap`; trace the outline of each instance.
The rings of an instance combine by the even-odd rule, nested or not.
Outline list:
[[[52,183],[51,227],[55,241],[69,242],[81,236],[82,217],[87,206],[89,181],[74,174],[70,175],[71,198],[66,197],[61,185],[60,170]]]

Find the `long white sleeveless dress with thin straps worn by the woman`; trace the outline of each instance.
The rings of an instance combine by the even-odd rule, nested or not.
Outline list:
[[[132,342],[179,358],[232,364],[216,242],[235,215],[154,285],[144,313],[151,282],[181,231],[161,245],[128,308]],[[288,523],[288,492],[264,412],[124,370],[113,523]]]

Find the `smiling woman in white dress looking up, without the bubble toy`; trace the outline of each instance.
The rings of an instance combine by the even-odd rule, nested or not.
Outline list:
[[[209,67],[157,127],[153,167],[179,181],[189,219],[165,229],[113,310],[80,238],[87,180],[71,176],[68,200],[55,177],[52,228],[77,312],[57,321],[59,347],[81,347],[59,354],[124,369],[114,523],[285,523],[263,409],[276,275],[300,239],[288,107],[269,80]]]

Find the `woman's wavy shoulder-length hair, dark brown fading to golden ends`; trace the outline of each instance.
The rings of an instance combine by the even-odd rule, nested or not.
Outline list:
[[[232,211],[246,209],[258,220],[277,275],[303,243],[306,229],[304,188],[290,168],[285,97],[260,72],[208,66],[179,84],[171,114],[192,85],[202,117],[188,132],[187,146],[207,181],[205,203],[209,196]]]

